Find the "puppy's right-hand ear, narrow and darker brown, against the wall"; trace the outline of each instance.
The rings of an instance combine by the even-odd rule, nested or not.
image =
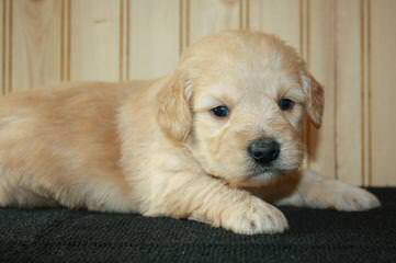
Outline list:
[[[325,94],[323,85],[307,71],[301,73],[303,89],[307,94],[306,111],[316,128],[320,127],[324,115]]]

